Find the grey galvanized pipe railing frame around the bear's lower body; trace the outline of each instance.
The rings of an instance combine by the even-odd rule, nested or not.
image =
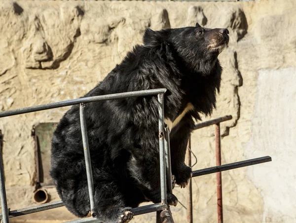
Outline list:
[[[141,96],[149,96],[149,95],[157,95],[159,107],[158,107],[158,130],[159,130],[159,158],[160,158],[160,191],[161,191],[161,203],[146,205],[144,207],[139,207],[133,209],[134,215],[160,211],[167,206],[167,197],[166,197],[166,174],[168,178],[172,178],[170,175],[170,171],[166,171],[166,156],[165,153],[169,151],[168,143],[165,143],[165,130],[164,130],[164,93],[166,92],[165,88],[153,89],[153,90],[143,90],[143,91],[134,91],[134,92],[124,92],[110,95],[102,95],[102,96],[94,96],[94,97],[86,97],[79,98],[74,100],[55,102],[45,105],[32,106],[22,109],[16,109],[11,111],[2,111],[0,112],[0,117],[7,117],[17,114],[24,114],[34,111],[43,111],[54,108],[61,108],[65,106],[72,106],[80,104],[79,107],[79,116],[80,116],[80,126],[81,126],[81,134],[82,134],[82,143],[84,150],[84,158],[86,165],[86,174],[87,174],[87,182],[88,182],[88,191],[89,191],[89,200],[90,200],[90,211],[91,214],[94,208],[94,188],[93,188],[93,178],[92,178],[92,169],[91,169],[91,160],[89,153],[89,146],[87,140],[87,128],[86,128],[86,120],[85,120],[85,104],[90,102],[104,101],[104,100],[112,100],[112,99],[120,99],[120,98],[129,98],[129,97],[141,97]],[[170,161],[168,162],[170,163]],[[170,169],[170,167],[169,167]],[[166,173],[167,172],[167,173]],[[30,214],[38,211],[48,210],[51,208],[61,207],[63,206],[62,201],[52,202],[43,205],[37,205],[34,207],[29,207],[20,210],[14,210],[8,213],[7,208],[7,200],[6,200],[6,191],[4,184],[4,174],[3,174],[3,163],[0,152],[0,199],[1,199],[1,207],[2,207],[2,222],[9,223],[9,217],[16,217],[20,215]],[[4,207],[4,208],[3,208]],[[98,222],[97,219],[79,219],[74,220],[72,222]]]

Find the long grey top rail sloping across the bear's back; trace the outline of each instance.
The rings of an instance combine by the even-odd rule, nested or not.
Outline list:
[[[43,110],[48,110],[48,109],[61,108],[61,107],[66,107],[66,106],[78,105],[80,103],[89,103],[89,102],[97,102],[97,101],[119,99],[119,98],[131,98],[131,97],[164,94],[165,92],[166,92],[165,88],[159,88],[159,89],[152,89],[152,90],[123,92],[123,93],[117,93],[117,94],[78,98],[78,99],[73,99],[73,100],[68,100],[68,101],[54,102],[54,103],[37,105],[37,106],[15,109],[15,110],[10,110],[10,111],[1,111],[0,117],[7,117],[7,116],[11,116],[11,115],[16,115],[16,114],[24,114],[24,113],[29,113],[29,112],[33,112],[33,111],[43,111]]]

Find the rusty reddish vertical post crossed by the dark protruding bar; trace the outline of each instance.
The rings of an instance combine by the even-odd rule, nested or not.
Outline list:
[[[221,166],[220,123],[215,124],[215,138],[216,138],[216,165]],[[221,172],[217,173],[217,204],[218,204],[218,223],[223,223]]]

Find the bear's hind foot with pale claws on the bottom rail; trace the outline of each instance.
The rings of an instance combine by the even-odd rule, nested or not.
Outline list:
[[[93,217],[104,223],[128,223],[133,218],[131,207],[126,207],[124,195],[114,182],[95,186]]]

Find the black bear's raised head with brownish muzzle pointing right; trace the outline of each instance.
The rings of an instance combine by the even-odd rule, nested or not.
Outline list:
[[[143,37],[146,47],[162,47],[173,50],[179,62],[194,73],[211,74],[212,69],[220,66],[218,55],[228,44],[227,29],[203,28],[198,23],[195,27],[164,29],[152,31],[147,28]],[[176,59],[176,56],[174,57]]]

